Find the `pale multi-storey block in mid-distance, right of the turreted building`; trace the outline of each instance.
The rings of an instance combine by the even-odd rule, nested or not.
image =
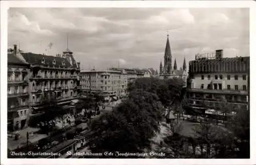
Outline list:
[[[99,92],[105,101],[126,95],[127,74],[119,70],[82,70],[80,87],[83,96]]]

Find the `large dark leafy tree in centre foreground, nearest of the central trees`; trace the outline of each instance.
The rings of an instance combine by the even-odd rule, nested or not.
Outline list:
[[[153,93],[133,91],[130,99],[94,120],[91,144],[96,146],[90,146],[92,151],[136,152],[149,148],[150,138],[158,131],[162,117],[156,99]]]

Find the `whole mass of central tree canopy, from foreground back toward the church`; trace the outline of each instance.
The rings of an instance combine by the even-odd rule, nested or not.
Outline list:
[[[179,79],[140,78],[129,84],[125,101],[92,121],[92,151],[136,152],[151,147],[150,139],[159,131],[165,109],[182,83]]]

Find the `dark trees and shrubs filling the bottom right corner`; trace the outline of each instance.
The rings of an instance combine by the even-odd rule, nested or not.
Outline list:
[[[207,107],[207,105],[205,105]],[[250,157],[250,112],[236,109],[225,101],[216,106],[224,117],[224,126],[216,125],[216,120],[206,117],[200,125],[193,127],[193,134],[182,136],[175,134],[165,139],[165,148],[174,151],[168,158],[249,158]],[[227,117],[236,111],[236,115]],[[187,147],[193,148],[187,152]],[[163,148],[164,148],[163,147]],[[200,154],[196,154],[196,148]]]

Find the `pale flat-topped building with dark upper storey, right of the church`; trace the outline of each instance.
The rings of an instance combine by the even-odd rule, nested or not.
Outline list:
[[[208,103],[212,109],[227,101],[234,107],[249,107],[250,57],[223,58],[215,54],[196,55],[189,61],[187,97],[196,108]],[[204,104],[205,105],[205,104]]]

